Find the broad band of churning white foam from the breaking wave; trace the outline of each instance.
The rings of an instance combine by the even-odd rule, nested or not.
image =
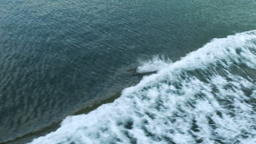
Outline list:
[[[31,143],[256,143],[256,31],[213,39]]]

